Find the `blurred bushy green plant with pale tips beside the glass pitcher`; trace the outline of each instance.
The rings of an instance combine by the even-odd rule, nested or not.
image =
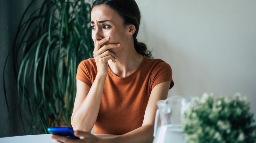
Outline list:
[[[194,97],[184,112],[187,143],[254,143],[256,125],[246,97]]]

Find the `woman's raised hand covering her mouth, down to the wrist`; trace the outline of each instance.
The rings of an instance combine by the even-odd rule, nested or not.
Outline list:
[[[112,60],[116,62],[116,59],[119,57],[116,56],[113,52],[110,52],[108,49],[119,47],[120,44],[106,44],[109,40],[109,37],[96,41],[93,51],[93,57],[97,65],[97,75],[107,75],[108,74],[108,65],[107,61]],[[103,46],[102,46],[103,45]]]

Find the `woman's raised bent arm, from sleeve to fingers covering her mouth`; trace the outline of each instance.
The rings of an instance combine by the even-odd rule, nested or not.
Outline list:
[[[102,44],[107,42],[109,37],[97,40],[94,44],[93,57],[97,65],[97,75],[90,88],[84,82],[76,81],[76,99],[71,116],[71,125],[74,130],[90,132],[97,119],[101,96],[108,74],[107,61],[116,62],[118,57],[108,49],[119,47],[120,44]]]

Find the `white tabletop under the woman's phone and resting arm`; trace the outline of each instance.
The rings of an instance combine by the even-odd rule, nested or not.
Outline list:
[[[117,135],[109,134],[94,134],[101,138],[114,137]],[[51,134],[40,134],[40,135],[27,135],[27,136],[15,136],[0,138],[0,143],[54,143],[51,139]]]

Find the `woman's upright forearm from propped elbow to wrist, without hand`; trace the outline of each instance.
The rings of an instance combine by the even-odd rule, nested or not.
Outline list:
[[[96,75],[92,87],[71,118],[74,130],[90,132],[97,119],[106,76]]]

